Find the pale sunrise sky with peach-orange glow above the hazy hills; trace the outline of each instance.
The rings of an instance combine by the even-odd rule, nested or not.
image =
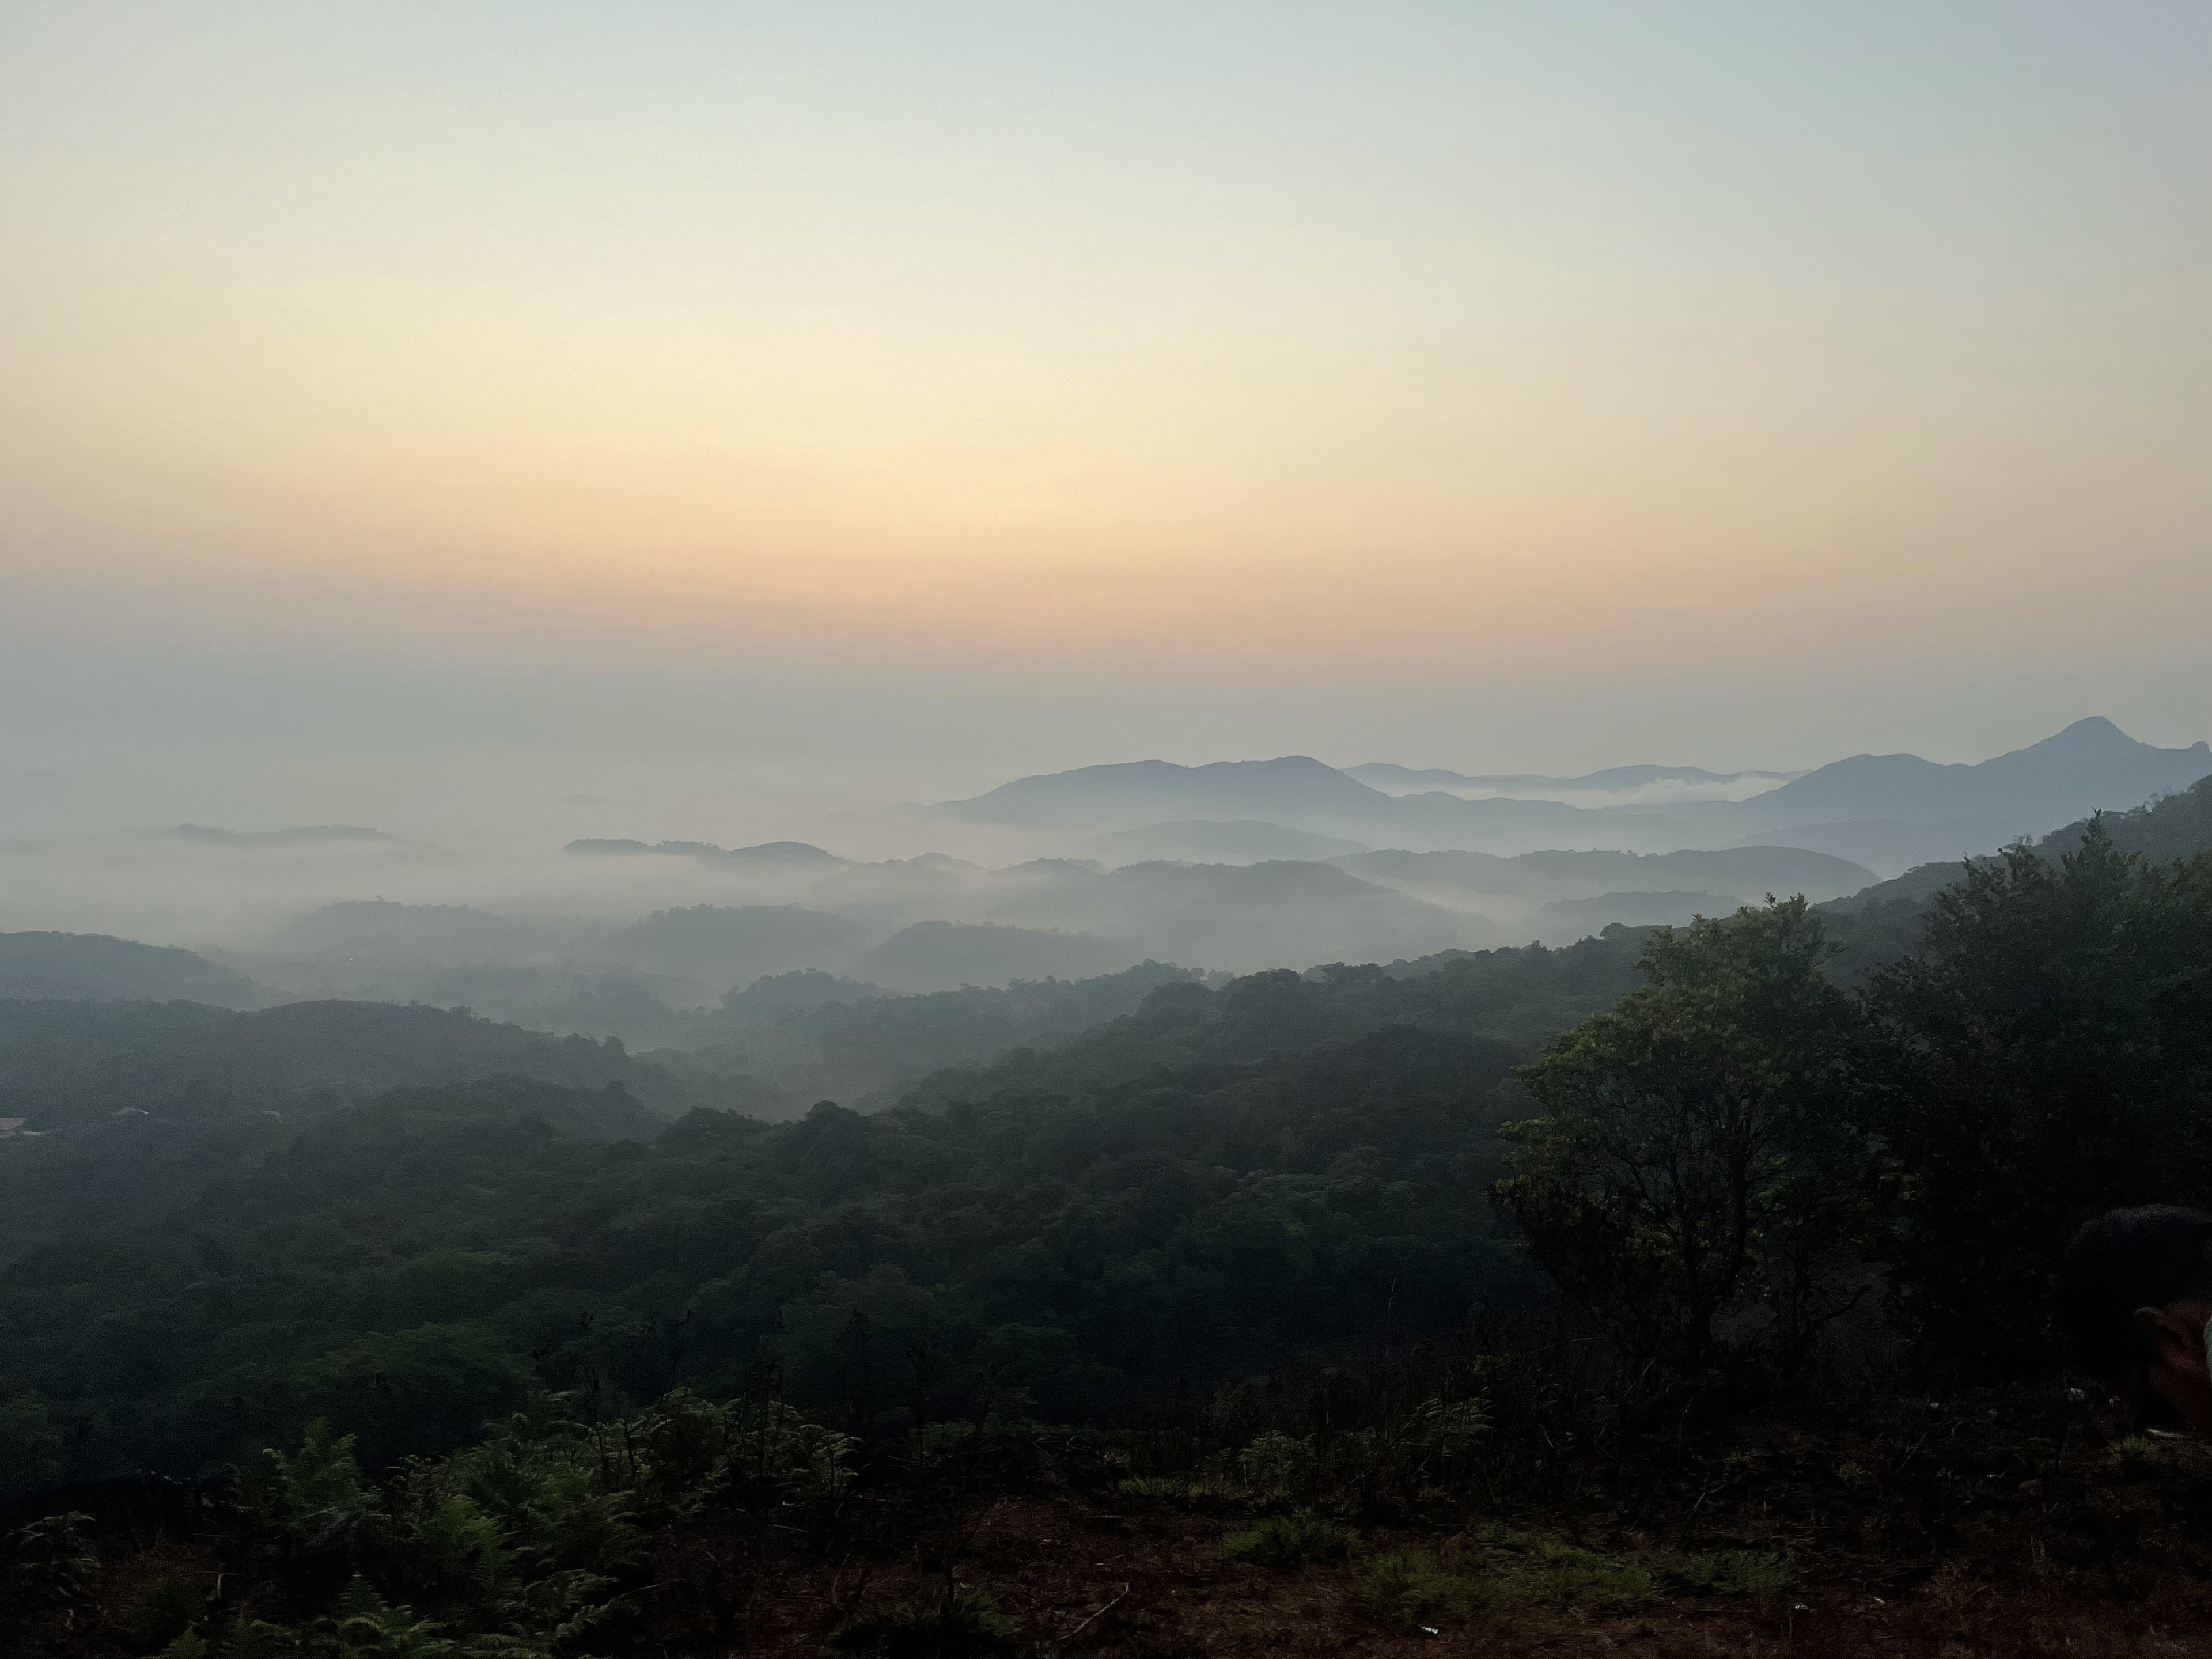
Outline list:
[[[0,785],[2190,743],[2208,80],[2194,2],[0,0]]]

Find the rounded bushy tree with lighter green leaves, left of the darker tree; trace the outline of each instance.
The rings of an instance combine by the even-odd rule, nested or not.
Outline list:
[[[1546,1115],[1493,1201],[1635,1356],[1792,1371],[1860,1294],[1865,1022],[1829,956],[1803,898],[1659,929],[1648,984],[1520,1073]]]

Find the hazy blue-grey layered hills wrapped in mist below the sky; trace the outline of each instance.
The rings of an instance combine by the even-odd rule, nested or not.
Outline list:
[[[425,1000],[650,1046],[728,989],[796,971],[920,991],[1091,978],[1144,960],[1225,971],[1391,962],[1557,942],[1573,936],[1559,929],[1641,925],[1770,891],[1825,902],[2208,774],[2212,745],[2154,748],[2106,719],[1978,765],[1849,757],[1750,799],[1663,807],[1389,794],[1298,754],[1137,761],[909,810],[940,827],[978,825],[964,845],[991,863],[945,854],[869,863],[803,841],[734,849],[577,841],[564,880],[588,858],[622,860],[628,902],[657,909],[349,898],[276,927],[252,951],[226,953],[259,984],[119,940],[18,940],[13,962],[0,949],[0,989],[15,971],[18,995]],[[1655,765],[1571,781],[1745,776]],[[907,836],[911,825],[900,838],[916,845]],[[33,964],[40,949],[51,960]]]

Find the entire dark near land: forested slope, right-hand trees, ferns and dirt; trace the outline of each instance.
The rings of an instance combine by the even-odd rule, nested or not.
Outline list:
[[[330,1110],[0,1274],[7,1639],[2203,1652],[2212,1469],[2048,1305],[2212,1188],[2212,856],[1922,929],[1175,982],[872,1117]]]

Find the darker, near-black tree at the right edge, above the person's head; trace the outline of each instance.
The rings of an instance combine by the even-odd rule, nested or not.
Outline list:
[[[1891,1305],[1927,1360],[2017,1369],[2081,1221],[2205,1201],[2212,854],[2143,863],[2093,821],[2057,863],[1973,863],[1869,1002],[1893,1053],[1867,1104],[1898,1175]]]

